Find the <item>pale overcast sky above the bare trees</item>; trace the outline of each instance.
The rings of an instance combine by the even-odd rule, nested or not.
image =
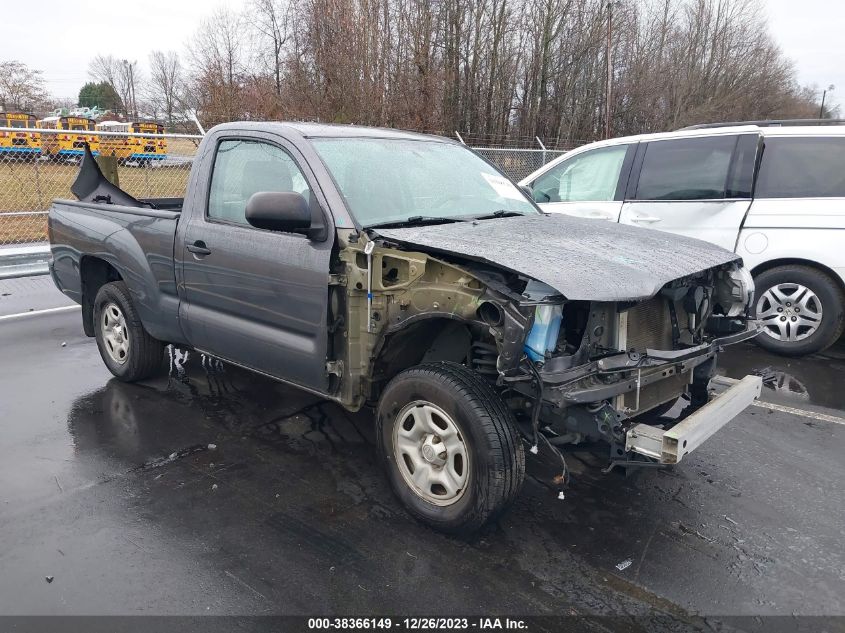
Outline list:
[[[627,0],[636,1],[636,0]],[[215,6],[241,8],[247,0],[3,0],[0,59],[19,59],[44,71],[51,94],[76,98],[88,80],[88,62],[98,53],[137,60],[146,71],[151,50],[181,52],[186,37]],[[845,102],[845,2],[762,0],[771,32],[795,63],[798,81],[819,89],[837,86],[834,104]],[[126,8],[120,8],[123,5]],[[139,15],[140,23],[133,23]],[[143,25],[143,26],[141,26]],[[842,113],[845,115],[845,112]]]

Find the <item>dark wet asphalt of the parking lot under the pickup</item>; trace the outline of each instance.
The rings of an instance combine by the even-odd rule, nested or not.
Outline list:
[[[842,342],[732,350],[765,402],[681,465],[574,454],[559,501],[532,464],[459,539],[393,498],[369,412],[182,350],[123,384],[78,310],[2,318],[65,305],[0,282],[0,615],[845,615]]]

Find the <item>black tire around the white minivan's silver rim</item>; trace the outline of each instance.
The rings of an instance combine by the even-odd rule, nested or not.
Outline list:
[[[778,266],[757,275],[754,279],[756,287],[755,315],[758,309],[762,313],[771,305],[763,297],[768,290],[776,288],[780,284],[800,284],[815,294],[822,307],[821,321],[816,330],[809,336],[794,341],[775,338],[774,333],[777,327],[774,324],[764,327],[764,331],[754,339],[760,347],[783,356],[804,356],[827,349],[842,336],[843,329],[845,329],[845,297],[843,297],[842,288],[830,275],[810,266]],[[795,306],[789,307],[794,309]],[[797,315],[797,317],[801,316],[800,313]],[[778,316],[772,321],[791,320],[793,317],[796,317],[796,315]],[[762,320],[764,326],[767,321],[769,319]],[[788,321],[783,321],[783,323],[786,325]],[[798,336],[806,331],[799,329]]]

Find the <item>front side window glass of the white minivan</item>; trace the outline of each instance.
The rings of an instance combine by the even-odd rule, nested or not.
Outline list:
[[[534,200],[602,202],[613,200],[628,145],[600,147],[565,160],[537,178]]]

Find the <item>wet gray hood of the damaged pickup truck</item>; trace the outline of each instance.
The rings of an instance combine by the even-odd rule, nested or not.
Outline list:
[[[637,301],[675,279],[738,262],[708,242],[566,215],[374,229],[401,245],[504,268],[573,301]]]

